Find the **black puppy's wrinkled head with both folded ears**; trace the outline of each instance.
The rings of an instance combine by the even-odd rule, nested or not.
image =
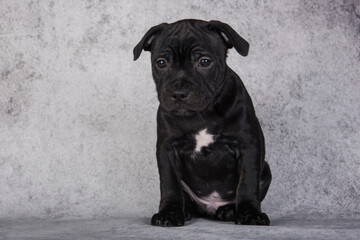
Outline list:
[[[229,25],[181,20],[152,27],[134,48],[151,52],[152,73],[160,106],[175,115],[206,110],[225,80],[227,49],[246,56],[249,44]]]

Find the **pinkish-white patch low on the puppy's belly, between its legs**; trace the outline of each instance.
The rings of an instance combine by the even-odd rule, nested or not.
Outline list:
[[[196,202],[198,206],[200,206],[205,212],[210,215],[215,215],[216,210],[224,205],[233,203],[234,201],[225,201],[221,198],[218,192],[214,191],[209,196],[206,197],[198,197],[195,193],[186,185],[185,182],[181,180],[181,185],[185,192],[189,194],[189,196]]]

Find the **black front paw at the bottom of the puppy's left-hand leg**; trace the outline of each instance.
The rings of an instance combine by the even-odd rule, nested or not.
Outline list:
[[[154,214],[151,218],[151,225],[161,227],[184,226],[185,217],[179,212],[162,211]]]

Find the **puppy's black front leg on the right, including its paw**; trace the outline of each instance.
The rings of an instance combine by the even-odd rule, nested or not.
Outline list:
[[[270,220],[261,212],[260,173],[264,161],[261,138],[246,136],[239,147],[239,184],[236,194],[235,223],[269,225]]]

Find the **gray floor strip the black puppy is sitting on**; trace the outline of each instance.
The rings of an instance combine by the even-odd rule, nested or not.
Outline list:
[[[148,218],[0,220],[0,239],[360,239],[360,219],[272,219],[272,226],[237,226],[194,219],[185,227],[149,225]]]

